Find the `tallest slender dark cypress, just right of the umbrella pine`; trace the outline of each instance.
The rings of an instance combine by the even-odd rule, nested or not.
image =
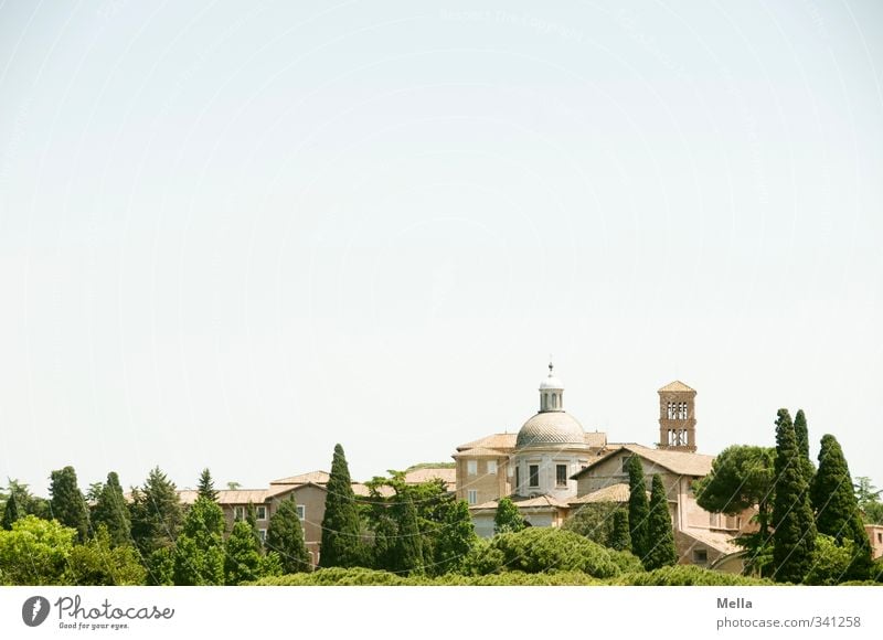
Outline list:
[[[773,503],[774,579],[800,583],[812,564],[816,522],[801,454],[788,409],[776,419],[776,498]]]

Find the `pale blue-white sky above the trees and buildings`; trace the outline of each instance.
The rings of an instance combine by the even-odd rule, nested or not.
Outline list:
[[[883,4],[0,3],[0,483],[266,487],[565,407],[883,486]]]

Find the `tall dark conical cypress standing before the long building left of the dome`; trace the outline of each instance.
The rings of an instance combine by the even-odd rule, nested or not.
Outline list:
[[[334,446],[331,474],[326,486],[328,494],[322,519],[322,546],[319,564],[322,567],[355,567],[364,562],[362,526],[352,491],[350,469],[343,447]]]

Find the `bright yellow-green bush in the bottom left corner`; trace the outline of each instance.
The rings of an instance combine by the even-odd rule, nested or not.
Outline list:
[[[76,530],[25,515],[0,531],[0,584],[61,585]]]

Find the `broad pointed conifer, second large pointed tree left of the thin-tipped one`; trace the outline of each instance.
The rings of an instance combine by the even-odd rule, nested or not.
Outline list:
[[[131,535],[141,555],[172,546],[183,519],[174,483],[156,467],[143,487],[132,489],[131,499]]]

